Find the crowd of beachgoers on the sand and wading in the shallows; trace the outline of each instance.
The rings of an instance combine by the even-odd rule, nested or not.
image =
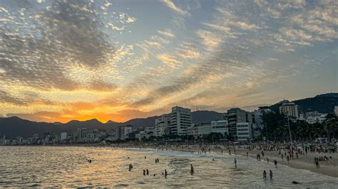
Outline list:
[[[287,163],[294,159],[298,159],[299,156],[307,156],[308,153],[314,153],[314,152],[319,152],[317,148],[314,148],[313,146],[297,146],[297,145],[290,145],[290,144],[276,144],[276,143],[271,143],[271,144],[250,144],[250,145],[235,145],[235,144],[199,144],[198,148],[196,148],[197,144],[153,144],[153,147],[157,150],[166,150],[168,151],[187,151],[190,153],[197,152],[198,154],[207,154],[211,153],[212,149],[215,149],[215,151],[219,151],[221,154],[223,154],[223,149],[227,150],[229,153],[229,156],[232,156],[232,154],[236,155],[236,148],[240,148],[241,151],[244,149],[246,151],[246,157],[249,157],[249,151],[256,150],[259,153],[256,154],[256,159],[257,161],[266,161],[267,163],[270,163],[270,158],[272,153],[267,153],[266,151],[274,152],[275,154],[278,154],[278,156],[281,157],[281,161],[284,161],[286,158]],[[141,148],[141,146],[140,146]],[[214,151],[214,150],[212,150]],[[240,152],[241,152],[240,151]],[[270,155],[269,155],[270,154]],[[244,155],[244,154],[243,154]],[[267,157],[270,156],[270,157]],[[277,156],[277,157],[278,157]],[[276,156],[273,156],[276,157]],[[129,157],[128,157],[129,158]],[[144,158],[147,158],[144,156]],[[273,158],[272,158],[273,159]],[[316,168],[319,168],[319,161],[329,161],[329,159],[332,159],[332,156],[319,156],[319,158],[315,157],[314,158],[314,164],[316,165]],[[155,158],[155,163],[159,163],[159,158]],[[212,158],[212,161],[215,161],[215,158]],[[89,162],[89,161],[88,161]],[[91,163],[91,160],[90,162]],[[278,161],[276,159],[273,160],[273,163],[275,165],[275,168],[277,168]],[[234,164],[235,168],[237,168],[237,158],[234,158]],[[129,165],[129,171],[133,169],[133,165],[130,163]],[[194,174],[194,167],[193,164],[190,164],[190,174]],[[149,170],[148,168],[143,169],[143,175],[149,175]],[[153,174],[154,176],[156,174]],[[168,172],[165,169],[162,175],[167,178]],[[267,171],[263,171],[263,179],[267,178]],[[273,173],[272,170],[270,170],[270,179],[273,178]],[[296,181],[292,181],[294,184],[298,184]]]

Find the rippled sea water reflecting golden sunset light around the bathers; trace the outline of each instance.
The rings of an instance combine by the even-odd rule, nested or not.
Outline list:
[[[281,165],[275,168],[273,163],[242,156],[236,156],[235,168],[234,156],[215,153],[56,146],[0,146],[0,151],[0,187],[269,188],[295,187],[293,180],[302,183],[297,185],[302,188],[338,185],[338,178]],[[160,162],[155,163],[155,158]],[[128,171],[129,163],[132,171]],[[190,175],[190,164],[194,175]],[[143,176],[146,168],[150,175]],[[165,169],[167,178],[162,175]],[[274,178],[263,180],[263,170],[272,170]]]

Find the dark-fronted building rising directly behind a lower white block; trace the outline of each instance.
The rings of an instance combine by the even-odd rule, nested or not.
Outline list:
[[[248,122],[252,124],[252,113],[240,108],[228,109],[225,117],[227,117],[229,134],[234,137],[237,136],[237,123]]]

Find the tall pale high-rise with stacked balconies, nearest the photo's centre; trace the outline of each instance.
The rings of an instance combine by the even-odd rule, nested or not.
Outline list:
[[[170,116],[170,132],[175,135],[186,135],[191,126],[191,110],[183,107],[173,107]]]

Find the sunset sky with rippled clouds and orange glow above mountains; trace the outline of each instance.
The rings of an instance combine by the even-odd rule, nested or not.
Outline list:
[[[1,0],[0,117],[127,121],[338,92],[338,1]]]

